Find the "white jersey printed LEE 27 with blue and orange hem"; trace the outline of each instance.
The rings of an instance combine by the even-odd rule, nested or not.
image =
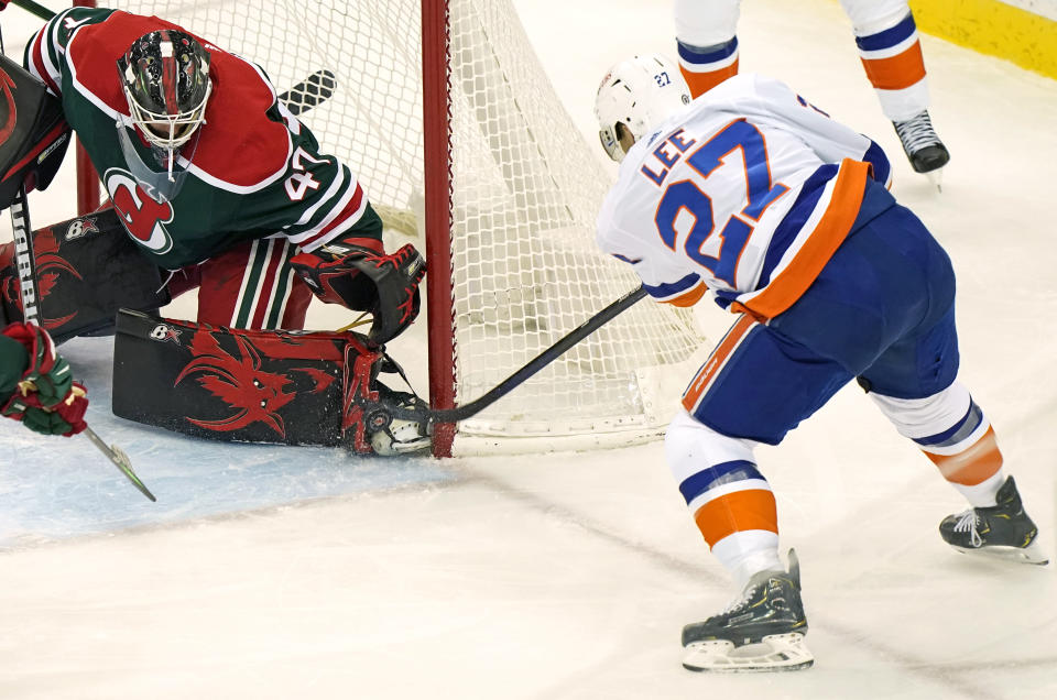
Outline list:
[[[881,147],[777,80],[730,78],[629,151],[598,244],[657,300],[772,318],[810,286],[851,230]]]

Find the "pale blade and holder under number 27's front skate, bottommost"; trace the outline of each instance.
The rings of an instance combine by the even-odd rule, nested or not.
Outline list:
[[[683,655],[683,668],[719,674],[799,670],[814,663],[799,632],[772,634],[739,647],[726,639],[691,642]]]

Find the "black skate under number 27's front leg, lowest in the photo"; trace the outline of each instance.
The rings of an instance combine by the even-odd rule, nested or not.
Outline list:
[[[800,602],[800,566],[761,571],[724,612],[683,627],[683,667],[696,671],[797,670],[815,663],[804,646],[807,617]]]

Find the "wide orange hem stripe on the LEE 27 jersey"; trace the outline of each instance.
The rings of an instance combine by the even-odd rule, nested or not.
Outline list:
[[[833,256],[859,216],[862,196],[867,189],[870,165],[844,158],[833,184],[829,207],[818,226],[789,264],[744,305],[758,316],[774,318],[800,298],[815,282],[829,259]]]

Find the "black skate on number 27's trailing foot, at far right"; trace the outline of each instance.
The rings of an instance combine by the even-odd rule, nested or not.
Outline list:
[[[948,515],[939,524],[939,535],[948,545],[967,554],[981,554],[1023,564],[1048,564],[1036,537],[1038,528],[1024,512],[1013,477],[1009,477],[996,496],[998,505],[969,508]]]

